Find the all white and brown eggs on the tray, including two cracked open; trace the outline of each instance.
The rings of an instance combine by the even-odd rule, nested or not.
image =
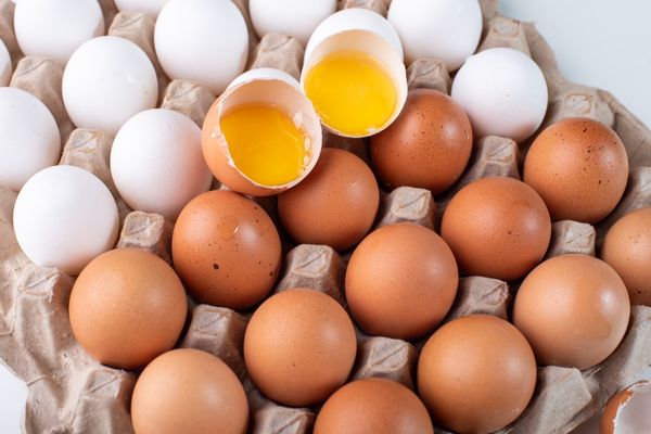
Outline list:
[[[48,107],[0,88],[0,186],[20,192],[17,241],[35,264],[78,276],[69,320],[81,346],[106,366],[143,369],[131,400],[137,433],[247,429],[241,379],[208,353],[173,349],[187,295],[251,316],[243,355],[253,384],[285,406],[321,406],[319,434],[433,433],[434,424],[496,432],[527,407],[538,366],[584,370],[615,350],[631,302],[651,305],[651,210],[612,227],[603,260],[544,260],[553,221],[595,225],[614,209],[628,156],[608,126],[587,118],[534,136],[547,113],[545,77],[513,49],[473,54],[482,35],[476,0],[393,0],[387,18],[335,12],[334,0],[248,3],[259,36],[304,44],[301,77],[244,73],[250,30],[229,0],[116,0],[156,20],[155,59],[102,36],[95,0],[16,4],[21,50],[65,68],[72,122],[114,136],[111,175],[122,200],[175,222],[173,266],[145,251],[113,250],[120,218],[110,189],[56,165],[61,137]],[[421,58],[454,75],[451,97],[408,90],[406,63]],[[0,85],[11,67],[0,43]],[[203,129],[156,108],[161,76],[218,95]],[[349,140],[368,161],[324,146],[326,136]],[[526,150],[523,180],[455,188],[473,142],[488,136]],[[382,191],[403,186],[449,197],[438,233],[413,224],[372,230]],[[277,197],[271,215],[264,196]],[[311,289],[269,296],[283,242],[349,258],[344,306]],[[519,286],[512,321],[472,315],[441,326],[460,275]],[[388,380],[348,382],[356,327],[422,344],[418,394]]]

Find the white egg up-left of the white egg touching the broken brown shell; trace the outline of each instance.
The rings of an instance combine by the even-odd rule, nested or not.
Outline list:
[[[115,36],[85,42],[63,74],[63,101],[79,128],[111,135],[131,116],[156,106],[158,80],[137,44]]]

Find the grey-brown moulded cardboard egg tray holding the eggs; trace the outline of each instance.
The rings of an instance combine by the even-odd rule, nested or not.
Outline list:
[[[361,7],[386,13],[388,0],[344,0],[340,8]],[[169,80],[163,74],[153,46],[154,20],[140,13],[117,13],[113,0],[100,0],[107,33],[132,40],[152,59],[161,85],[159,105],[188,115],[201,126],[215,100],[206,88],[192,81]],[[246,0],[235,1],[247,22]],[[553,224],[548,257],[563,253],[595,254],[601,237],[622,215],[651,206],[651,131],[610,93],[566,81],[553,53],[533,25],[497,14],[497,1],[482,1],[484,37],[480,50],[511,47],[531,55],[542,68],[550,94],[546,125],[569,116],[587,116],[615,129],[630,158],[626,193],[617,208],[597,228],[575,221]],[[114,194],[122,217],[117,246],[145,248],[171,261],[173,224],[162,216],[131,212],[111,179],[108,155],[112,137],[74,129],[61,95],[63,71],[47,59],[23,56],[13,34],[13,3],[0,0],[0,38],[14,61],[11,86],[25,89],[52,111],[65,149],[62,164],[95,174]],[[250,26],[251,28],[251,26]],[[298,77],[303,48],[282,35],[259,40],[253,31],[250,67],[270,66]],[[420,59],[408,68],[410,88],[433,88],[449,93],[450,77],[441,62]],[[368,161],[363,140],[324,136],[326,146],[348,149]],[[519,149],[510,139],[487,137],[475,143],[471,163],[459,182],[444,196],[426,190],[398,188],[383,193],[376,225],[411,221],[434,229],[442,209],[456,191],[485,176],[520,178],[519,166],[527,144]],[[214,188],[220,188],[215,182]],[[31,433],[130,433],[130,395],[136,374],[99,365],[75,341],[67,303],[74,279],[61,271],[31,264],[18,247],[12,227],[16,193],[0,188],[0,358],[28,387],[24,431]],[[260,204],[277,219],[273,199]],[[295,286],[311,288],[345,306],[343,280],[346,257],[328,246],[291,245],[284,240],[284,270],[273,292]],[[457,301],[446,321],[483,312],[508,318],[513,288],[483,277],[462,278]],[[225,360],[242,380],[251,404],[251,433],[303,434],[311,432],[316,409],[283,407],[265,398],[248,379],[242,343],[248,314],[196,305],[191,301],[187,332],[178,346],[194,347]],[[413,388],[418,348],[424,340],[367,336],[358,332],[358,355],[352,379],[390,378]],[[637,380],[651,366],[651,308],[635,306],[630,327],[620,347],[601,365],[578,371],[545,367],[527,410],[500,433],[569,433],[601,411],[607,399]],[[443,432],[443,431],[439,431]]]

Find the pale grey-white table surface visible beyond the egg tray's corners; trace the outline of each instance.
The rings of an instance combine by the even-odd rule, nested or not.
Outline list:
[[[611,91],[651,127],[651,2],[501,0],[500,11],[535,22],[570,80]],[[0,433],[21,432],[26,397],[25,384],[0,366]],[[576,434],[597,432],[593,420]]]

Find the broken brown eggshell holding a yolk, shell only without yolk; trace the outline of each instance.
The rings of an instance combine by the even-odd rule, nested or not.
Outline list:
[[[247,177],[233,161],[221,131],[221,118],[243,105],[267,104],[284,111],[306,137],[303,173],[293,181],[264,186]],[[315,167],[321,153],[321,122],[295,78],[273,68],[248,71],[235,78],[215,101],[204,120],[202,149],[208,168],[230,189],[253,196],[269,196],[301,182]]]

